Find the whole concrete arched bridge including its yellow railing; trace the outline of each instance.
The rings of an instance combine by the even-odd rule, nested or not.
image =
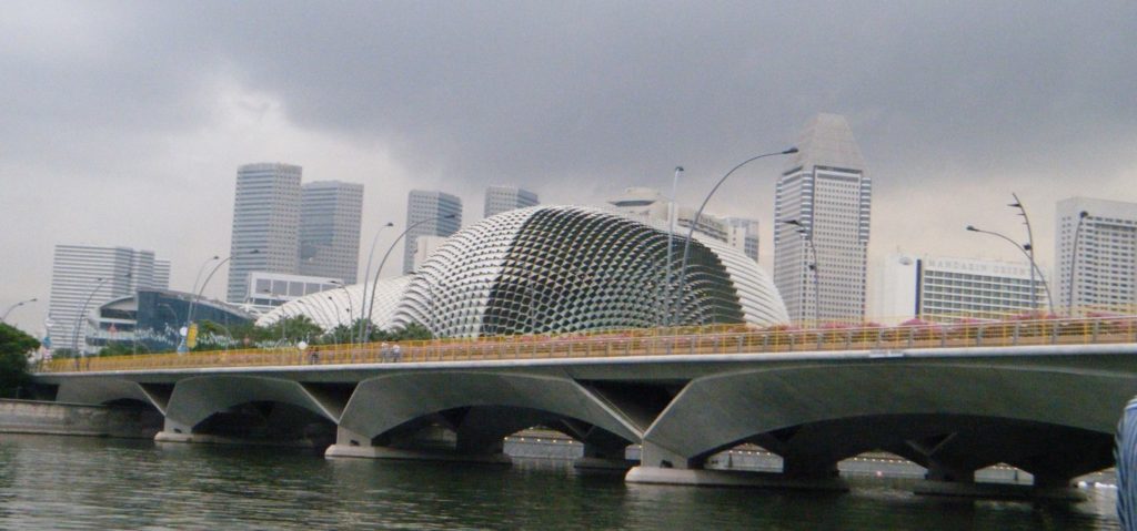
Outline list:
[[[957,326],[630,330],[55,360],[42,396],[160,413],[160,441],[327,445],[329,457],[508,461],[530,427],[626,481],[840,489],[885,450],[969,486],[1005,463],[1035,487],[1112,466],[1137,395],[1137,318]],[[157,416],[157,415],[156,415]],[[708,470],[756,444],[779,474]]]

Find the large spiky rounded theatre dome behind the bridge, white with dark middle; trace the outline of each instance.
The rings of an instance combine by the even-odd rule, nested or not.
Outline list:
[[[514,210],[449,237],[415,272],[390,324],[440,337],[673,324],[786,323],[770,277],[720,242],[579,206]],[[674,315],[675,318],[671,318]]]

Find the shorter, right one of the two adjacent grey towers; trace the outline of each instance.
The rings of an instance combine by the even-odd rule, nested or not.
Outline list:
[[[300,275],[356,283],[363,185],[325,180],[300,188]]]

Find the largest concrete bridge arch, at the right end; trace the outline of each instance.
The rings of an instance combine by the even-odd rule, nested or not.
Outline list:
[[[1120,411],[1102,403],[1124,404],[1135,393],[1132,374],[1046,365],[889,360],[771,368],[691,381],[647,430],[645,442],[681,467],[697,467],[708,455],[744,441],[783,455],[787,471],[823,473],[840,458],[873,448],[927,466],[935,463],[921,462],[921,455],[933,453],[906,452],[912,442],[939,446],[960,433],[972,439],[972,449],[981,446],[977,440],[1015,440],[1023,433],[1064,433],[1098,448],[1112,436]],[[955,463],[974,470],[1013,461],[1011,452],[961,456]]]

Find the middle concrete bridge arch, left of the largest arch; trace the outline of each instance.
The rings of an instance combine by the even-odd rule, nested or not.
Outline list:
[[[356,388],[340,427],[376,445],[431,420],[448,424],[473,452],[524,428],[550,423],[571,437],[612,444],[641,430],[567,378],[471,371],[388,374]],[[559,425],[564,423],[564,425]],[[599,429],[604,433],[594,433]]]

